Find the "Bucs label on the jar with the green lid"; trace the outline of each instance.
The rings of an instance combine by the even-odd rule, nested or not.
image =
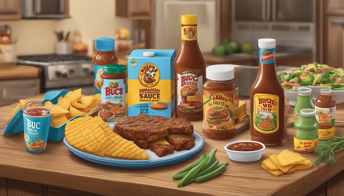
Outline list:
[[[126,85],[124,79],[104,79],[101,87],[101,103],[99,116],[106,122],[116,122],[118,118],[127,116]]]

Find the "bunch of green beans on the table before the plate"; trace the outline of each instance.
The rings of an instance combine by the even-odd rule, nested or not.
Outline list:
[[[193,181],[203,182],[210,180],[226,169],[228,163],[214,162],[217,149],[213,149],[209,155],[202,152],[200,159],[182,169],[172,176],[173,179],[182,179],[178,182],[177,187],[184,186]]]

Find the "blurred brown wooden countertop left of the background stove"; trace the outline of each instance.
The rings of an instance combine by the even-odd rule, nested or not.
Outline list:
[[[14,63],[0,64],[0,80],[39,78],[41,74],[42,68],[40,67],[17,65]]]

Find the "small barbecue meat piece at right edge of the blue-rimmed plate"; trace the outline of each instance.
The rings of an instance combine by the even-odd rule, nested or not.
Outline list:
[[[185,133],[175,133],[165,136],[166,141],[168,141],[172,146],[174,146],[176,151],[190,150],[195,146],[195,136]]]

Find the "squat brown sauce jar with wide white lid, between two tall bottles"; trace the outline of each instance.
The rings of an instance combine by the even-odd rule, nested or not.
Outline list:
[[[213,139],[234,136],[234,67],[212,65],[206,68],[203,84],[203,133]]]

